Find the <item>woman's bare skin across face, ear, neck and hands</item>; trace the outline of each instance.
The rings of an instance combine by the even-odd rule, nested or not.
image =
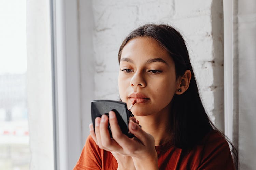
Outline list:
[[[125,45],[118,76],[120,98],[127,106],[135,99],[130,98],[132,93],[147,98],[137,98],[138,103],[131,109],[135,118],[131,118],[128,128],[136,137],[130,139],[122,134],[113,111],[109,112],[109,118],[103,115],[95,119],[95,133],[90,124],[94,141],[113,154],[118,169],[158,169],[155,146],[171,140],[168,120],[172,98],[188,89],[190,79],[191,72],[186,70],[176,80],[174,61],[156,40],[136,37]],[[108,122],[113,138],[108,133]]]

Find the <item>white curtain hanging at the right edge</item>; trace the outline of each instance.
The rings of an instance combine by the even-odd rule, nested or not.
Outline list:
[[[224,5],[225,133],[238,148],[239,169],[256,167],[256,1]]]

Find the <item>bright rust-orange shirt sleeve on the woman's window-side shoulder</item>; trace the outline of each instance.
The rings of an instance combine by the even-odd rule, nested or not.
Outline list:
[[[73,170],[102,169],[101,149],[96,145],[91,135],[88,136],[82,153]]]

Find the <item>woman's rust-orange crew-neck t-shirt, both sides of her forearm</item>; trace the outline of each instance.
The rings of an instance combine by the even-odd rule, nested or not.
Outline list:
[[[160,170],[235,169],[229,145],[216,130],[207,133],[203,140],[190,151],[177,148],[171,143],[155,146],[155,148]],[[111,170],[117,167],[118,164],[111,152],[100,149],[89,136],[73,170]]]

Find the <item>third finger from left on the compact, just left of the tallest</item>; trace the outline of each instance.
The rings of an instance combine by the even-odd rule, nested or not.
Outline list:
[[[116,143],[115,140],[110,138],[109,130],[108,130],[108,116],[102,115],[100,122],[100,137],[101,144],[103,149],[107,151],[117,151],[120,149],[120,146]]]

